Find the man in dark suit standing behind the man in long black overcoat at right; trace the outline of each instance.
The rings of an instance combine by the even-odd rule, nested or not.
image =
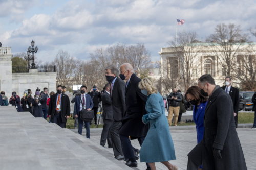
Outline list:
[[[236,123],[236,128],[238,128],[238,109],[239,109],[239,89],[231,86],[231,78],[227,76],[225,78],[226,86],[221,88],[230,95],[233,102],[234,109],[234,122]]]

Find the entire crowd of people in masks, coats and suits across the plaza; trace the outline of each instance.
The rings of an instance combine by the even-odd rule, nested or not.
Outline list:
[[[74,103],[74,126],[90,139],[90,125],[97,124],[97,111],[102,103],[103,130],[100,145],[113,149],[117,160],[125,160],[129,167],[137,167],[137,160],[145,162],[147,169],[156,169],[155,162],[168,169],[178,169],[170,163],[175,160],[175,146],[169,126],[177,126],[186,111],[185,101],[193,105],[193,120],[196,123],[197,144],[188,153],[187,169],[247,169],[243,150],[236,132],[238,126],[239,90],[231,86],[231,78],[225,78],[225,86],[215,84],[211,75],[203,75],[198,85],[189,87],[185,95],[174,88],[167,98],[157,91],[150,78],[140,79],[131,64],[124,63],[105,68],[106,83],[103,91],[96,86],[89,91],[86,85],[74,93],[70,101],[65,86],[58,85],[57,93],[48,94],[37,88],[32,96],[30,89],[20,98],[12,92],[9,104],[17,111],[29,111],[35,117],[49,117],[49,122],[66,127],[70,118],[70,103]],[[256,116],[256,93],[252,97]],[[1,105],[9,105],[1,92]],[[168,109],[166,118],[165,109]],[[83,114],[90,113],[90,119]],[[256,127],[254,118],[253,128]],[[137,139],[141,148],[134,148],[131,140]],[[236,150],[234,150],[234,148]]]

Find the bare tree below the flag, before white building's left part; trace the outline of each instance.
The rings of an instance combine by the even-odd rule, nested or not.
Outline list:
[[[196,32],[180,32],[178,33],[177,44],[176,41],[169,42],[174,50],[173,57],[178,59],[179,81],[177,84],[187,90],[193,84],[193,68],[196,67],[197,53],[199,52],[199,45],[197,44]],[[174,60],[175,61],[175,60]],[[176,68],[173,71],[176,71]],[[176,74],[176,72],[174,72]]]

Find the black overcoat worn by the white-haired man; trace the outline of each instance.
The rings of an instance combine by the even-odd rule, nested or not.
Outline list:
[[[122,127],[119,134],[131,136],[131,139],[145,137],[148,125],[143,124],[142,116],[146,113],[145,103],[147,96],[141,93],[138,84],[140,82],[135,74],[132,74],[129,84],[125,89],[126,112],[122,119]]]

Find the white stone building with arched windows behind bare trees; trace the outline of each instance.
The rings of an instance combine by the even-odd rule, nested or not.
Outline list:
[[[236,63],[231,76],[234,86],[239,87],[240,81],[235,79],[237,68],[239,67],[239,57],[245,55],[255,55],[256,43],[240,43],[232,46],[234,51],[230,50],[230,55],[234,56]],[[190,43],[187,46],[161,48],[159,52],[161,57],[162,78],[169,80],[174,86],[185,91],[184,77],[189,75],[190,84],[197,85],[198,79],[204,74],[210,74],[214,77],[217,85],[224,85],[224,79],[227,76],[225,62],[223,61],[224,51],[221,45],[216,43]],[[250,53],[250,54],[248,54]],[[255,57],[255,56],[254,56]],[[162,90],[167,91],[162,85]]]

